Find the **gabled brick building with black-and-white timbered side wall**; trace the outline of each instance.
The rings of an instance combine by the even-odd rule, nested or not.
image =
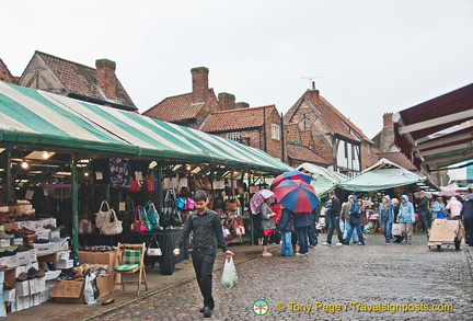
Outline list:
[[[311,137],[320,165],[353,176],[371,165],[373,142],[320,95],[314,87],[284,115],[285,124],[297,124],[301,137]]]

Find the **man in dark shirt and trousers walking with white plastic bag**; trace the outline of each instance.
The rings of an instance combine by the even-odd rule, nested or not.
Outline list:
[[[178,255],[181,253],[181,247],[187,241],[189,233],[193,232],[192,260],[200,294],[204,297],[204,307],[200,312],[204,313],[205,318],[210,318],[215,308],[212,297],[212,271],[216,259],[215,239],[217,239],[217,245],[223,250],[227,257],[234,254],[227,249],[218,214],[207,208],[207,193],[197,191],[194,194],[194,200],[196,211],[193,211],[187,217],[173,254]]]

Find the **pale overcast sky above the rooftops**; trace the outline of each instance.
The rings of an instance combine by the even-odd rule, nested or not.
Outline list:
[[[191,68],[285,113],[310,87],[372,138],[382,114],[473,82],[472,0],[7,0],[0,58],[41,50],[116,74],[140,112],[192,91]]]

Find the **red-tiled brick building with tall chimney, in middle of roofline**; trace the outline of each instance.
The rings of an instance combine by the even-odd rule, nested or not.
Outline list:
[[[191,73],[192,92],[165,98],[142,114],[229,138],[285,161],[281,116],[275,105],[250,107],[227,92],[217,98],[206,67]]]

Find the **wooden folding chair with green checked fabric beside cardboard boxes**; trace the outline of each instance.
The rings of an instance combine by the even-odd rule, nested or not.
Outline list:
[[[114,267],[114,284],[120,285],[125,290],[125,284],[134,284],[138,286],[139,296],[141,284],[145,284],[148,290],[148,280],[145,271],[145,251],[146,245],[142,244],[123,244],[118,243],[116,266]],[[125,280],[125,274],[138,274],[138,280]]]

